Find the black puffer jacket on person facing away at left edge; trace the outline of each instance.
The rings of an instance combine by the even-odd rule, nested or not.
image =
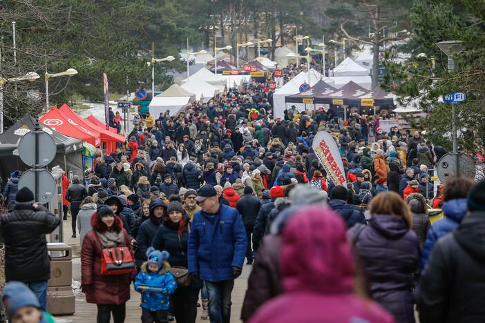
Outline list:
[[[50,277],[50,257],[46,234],[61,222],[44,206],[18,203],[15,210],[0,218],[5,240],[5,275],[7,282],[43,282]]]

